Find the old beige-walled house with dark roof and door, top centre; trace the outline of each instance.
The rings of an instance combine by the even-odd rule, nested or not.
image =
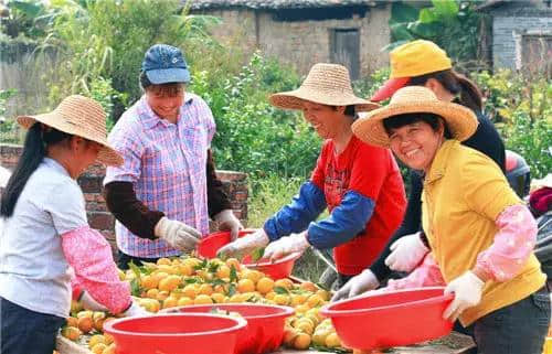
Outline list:
[[[388,65],[390,1],[194,0],[191,11],[221,18],[221,41],[238,39],[301,74],[319,62],[343,64],[352,78]]]

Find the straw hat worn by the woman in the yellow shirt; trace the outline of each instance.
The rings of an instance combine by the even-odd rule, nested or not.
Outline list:
[[[423,86],[400,88],[388,106],[361,116],[352,125],[353,133],[364,142],[389,148],[389,136],[383,128],[383,119],[404,114],[427,112],[443,117],[453,138],[468,139],[477,129],[477,117],[471,109],[439,100],[435,94]]]

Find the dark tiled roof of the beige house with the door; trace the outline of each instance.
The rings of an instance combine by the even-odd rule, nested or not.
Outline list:
[[[305,9],[347,6],[370,6],[391,0],[191,0],[193,10],[221,8]],[[185,0],[182,0],[185,2]]]

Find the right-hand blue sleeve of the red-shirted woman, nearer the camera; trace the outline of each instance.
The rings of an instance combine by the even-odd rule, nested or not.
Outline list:
[[[308,242],[318,249],[347,243],[364,229],[372,217],[375,203],[372,199],[349,191],[331,214],[308,228]]]

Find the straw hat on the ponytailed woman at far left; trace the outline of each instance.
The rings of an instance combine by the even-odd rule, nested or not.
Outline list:
[[[123,158],[107,142],[106,114],[94,99],[73,95],[62,100],[53,111],[36,116],[19,116],[18,122],[25,129],[41,122],[60,131],[95,141],[104,148],[97,161],[106,165],[120,165]]]

